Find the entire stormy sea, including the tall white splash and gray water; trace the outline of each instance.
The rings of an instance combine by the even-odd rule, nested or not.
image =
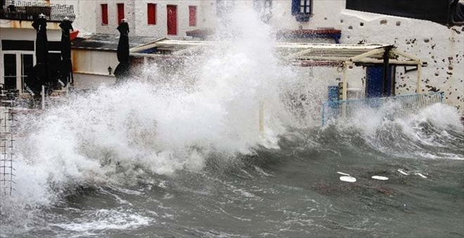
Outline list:
[[[464,237],[458,111],[321,126],[326,83],[281,65],[250,15],[207,57],[20,115],[0,236]]]

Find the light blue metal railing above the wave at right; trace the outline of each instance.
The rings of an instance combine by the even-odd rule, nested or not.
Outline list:
[[[407,114],[418,112],[418,110],[443,103],[444,93],[424,93],[411,95],[397,95],[387,98],[365,98],[359,100],[334,100],[323,103],[322,125],[333,119],[349,119],[356,115],[359,110],[379,109],[380,107],[390,104],[394,108],[395,114]]]

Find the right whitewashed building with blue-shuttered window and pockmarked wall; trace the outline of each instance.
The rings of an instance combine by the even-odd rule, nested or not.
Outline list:
[[[269,24],[274,29],[299,33],[300,38],[309,41],[315,35],[305,30],[333,28],[341,31],[341,44],[397,46],[426,62],[418,92],[442,91],[445,103],[464,113],[464,5],[456,9],[456,4],[464,1],[401,1],[402,6],[397,9],[392,2],[395,1],[256,0],[236,1],[236,6],[266,6],[269,9],[264,13],[270,15]],[[375,67],[350,68],[349,87],[367,95],[369,82],[375,84],[371,80],[376,79],[366,75],[375,72]],[[336,70],[332,75],[328,70],[317,74],[323,74],[329,85],[340,79]],[[391,87],[386,95],[414,93],[417,74],[417,67],[392,68]]]

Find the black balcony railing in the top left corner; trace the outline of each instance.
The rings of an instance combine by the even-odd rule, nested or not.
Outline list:
[[[64,18],[74,21],[76,18],[74,8],[69,5],[6,0],[0,8],[0,19],[34,20],[40,14],[44,14],[49,22],[60,22]]]

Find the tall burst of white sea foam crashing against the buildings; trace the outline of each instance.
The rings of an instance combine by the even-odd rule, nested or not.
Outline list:
[[[117,186],[184,168],[198,171],[211,154],[229,160],[254,153],[260,143],[276,147],[276,136],[293,123],[283,98],[298,88],[295,73],[278,64],[271,29],[252,11],[233,13],[218,32],[229,42],[203,55],[150,65],[127,84],[73,95],[38,117],[18,118],[15,192],[0,199],[2,216],[56,204],[78,185]],[[105,221],[60,224],[69,230],[95,225],[109,227]]]

